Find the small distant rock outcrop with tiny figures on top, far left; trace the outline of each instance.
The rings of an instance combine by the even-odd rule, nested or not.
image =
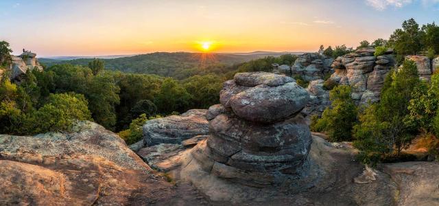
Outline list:
[[[10,65],[11,79],[20,80],[27,70],[38,69],[43,71],[43,67],[38,62],[36,54],[31,52],[25,52],[20,56],[11,56],[12,64]]]

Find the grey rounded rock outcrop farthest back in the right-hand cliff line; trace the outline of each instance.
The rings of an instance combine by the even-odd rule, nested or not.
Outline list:
[[[291,76],[301,76],[305,81],[323,79],[332,73],[331,63],[333,58],[316,53],[305,53],[296,59],[292,66]]]

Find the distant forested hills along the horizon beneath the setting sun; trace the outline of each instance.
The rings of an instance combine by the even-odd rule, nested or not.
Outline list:
[[[102,58],[106,69],[128,73],[150,73],[160,76],[176,76],[185,70],[193,70],[216,65],[234,65],[266,56],[278,57],[282,54],[302,54],[300,52],[252,52],[252,53],[189,53],[189,52],[155,52],[119,58]],[[73,57],[71,57],[73,58]],[[60,60],[39,58],[40,63],[51,66],[58,64],[88,65],[92,58]]]

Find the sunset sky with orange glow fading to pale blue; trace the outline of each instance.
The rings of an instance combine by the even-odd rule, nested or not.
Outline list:
[[[388,38],[401,23],[439,21],[439,0],[0,0],[13,54],[312,52]]]

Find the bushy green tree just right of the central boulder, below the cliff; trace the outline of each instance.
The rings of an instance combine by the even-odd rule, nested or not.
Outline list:
[[[351,87],[334,87],[329,92],[329,100],[331,106],[323,111],[322,118],[313,124],[313,128],[327,133],[329,141],[352,140],[351,130],[357,121],[357,106],[351,98]]]

